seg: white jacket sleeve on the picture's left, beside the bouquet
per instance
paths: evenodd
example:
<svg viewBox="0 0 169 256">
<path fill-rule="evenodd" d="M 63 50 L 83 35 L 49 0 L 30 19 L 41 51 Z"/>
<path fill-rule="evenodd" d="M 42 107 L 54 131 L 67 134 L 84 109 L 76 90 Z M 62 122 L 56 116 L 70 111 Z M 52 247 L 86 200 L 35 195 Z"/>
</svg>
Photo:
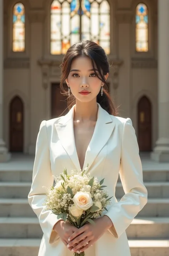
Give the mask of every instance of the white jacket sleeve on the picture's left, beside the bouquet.
<svg viewBox="0 0 169 256">
<path fill-rule="evenodd" d="M 50 154 L 48 148 L 46 121 L 42 121 L 36 141 L 35 162 L 32 176 L 31 190 L 28 195 L 28 202 L 39 218 L 45 240 L 48 243 L 56 242 L 59 237 L 53 230 L 58 222 L 57 215 L 50 210 L 45 210 L 46 189 L 53 185 L 54 178 L 50 166 Z"/>
</svg>

